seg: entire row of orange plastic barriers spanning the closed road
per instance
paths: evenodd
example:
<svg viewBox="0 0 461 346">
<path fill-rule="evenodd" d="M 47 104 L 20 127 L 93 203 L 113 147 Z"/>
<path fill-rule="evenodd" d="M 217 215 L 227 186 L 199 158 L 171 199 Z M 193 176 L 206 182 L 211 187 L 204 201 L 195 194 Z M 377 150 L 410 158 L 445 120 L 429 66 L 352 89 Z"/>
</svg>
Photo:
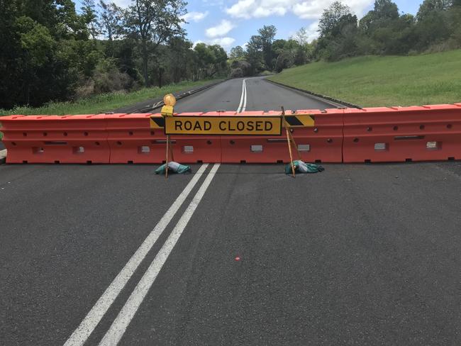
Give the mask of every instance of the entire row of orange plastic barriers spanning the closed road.
<svg viewBox="0 0 461 346">
<path fill-rule="evenodd" d="M 286 111 L 287 116 L 292 112 Z M 313 127 L 290 128 L 306 162 L 461 160 L 461 104 L 392 108 L 299 110 Z M 279 115 L 279 111 L 240 116 Z M 235 116 L 235 112 L 182 113 Z M 152 114 L 4 116 L 7 163 L 162 163 L 166 136 Z M 162 116 L 155 114 L 162 122 Z M 289 162 L 285 136 L 171 136 L 182 163 Z"/>
</svg>

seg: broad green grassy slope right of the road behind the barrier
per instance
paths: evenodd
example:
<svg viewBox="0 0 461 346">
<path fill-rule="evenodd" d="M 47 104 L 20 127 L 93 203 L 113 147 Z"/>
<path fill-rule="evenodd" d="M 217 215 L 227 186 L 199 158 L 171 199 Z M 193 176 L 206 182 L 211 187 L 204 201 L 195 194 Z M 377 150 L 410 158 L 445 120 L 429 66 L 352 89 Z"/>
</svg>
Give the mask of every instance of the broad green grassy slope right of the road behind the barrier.
<svg viewBox="0 0 461 346">
<path fill-rule="evenodd" d="M 364 107 L 453 104 L 461 102 L 461 50 L 314 62 L 270 79 Z"/>
</svg>

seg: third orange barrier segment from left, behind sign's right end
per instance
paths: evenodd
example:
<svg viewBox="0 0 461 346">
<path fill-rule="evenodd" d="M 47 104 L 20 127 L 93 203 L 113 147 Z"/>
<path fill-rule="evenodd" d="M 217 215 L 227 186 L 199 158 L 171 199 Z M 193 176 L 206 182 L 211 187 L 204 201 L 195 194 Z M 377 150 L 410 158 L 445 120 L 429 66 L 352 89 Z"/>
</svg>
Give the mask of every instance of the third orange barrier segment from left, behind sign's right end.
<svg viewBox="0 0 461 346">
<path fill-rule="evenodd" d="M 287 115 L 293 113 L 286 111 Z M 291 128 L 302 160 L 306 162 L 342 162 L 343 109 L 299 110 L 299 114 L 313 114 L 315 126 Z M 243 112 L 241 116 L 269 116 L 280 111 Z M 277 163 L 289 162 L 286 136 L 221 137 L 223 163 Z"/>
</svg>

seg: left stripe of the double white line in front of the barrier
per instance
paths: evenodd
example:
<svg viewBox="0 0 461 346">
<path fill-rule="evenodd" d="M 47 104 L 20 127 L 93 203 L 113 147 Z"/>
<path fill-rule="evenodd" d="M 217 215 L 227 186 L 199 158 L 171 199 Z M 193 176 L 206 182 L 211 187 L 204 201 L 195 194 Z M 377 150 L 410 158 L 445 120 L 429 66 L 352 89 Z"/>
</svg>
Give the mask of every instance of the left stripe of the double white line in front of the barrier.
<svg viewBox="0 0 461 346">
<path fill-rule="evenodd" d="M 145 238 L 143 244 L 138 247 L 138 250 L 136 250 L 128 263 L 125 264 L 125 267 L 123 267 L 121 272 L 118 273 L 116 278 L 113 279 L 110 286 L 106 289 L 106 291 L 104 291 L 104 294 L 98 299 L 98 301 L 96 301 L 96 304 L 94 304 L 93 308 L 91 308 L 87 316 L 84 320 L 82 320 L 79 327 L 74 330 L 72 335 L 70 335 L 69 339 L 64 344 L 65 346 L 84 345 L 84 342 L 87 341 L 89 335 L 91 335 L 94 328 L 96 328 L 96 325 L 98 325 L 101 318 L 103 318 L 104 314 L 109 310 L 113 301 L 115 301 L 118 294 L 120 294 L 121 290 L 133 275 L 136 268 L 138 268 L 139 264 L 143 262 L 145 256 L 148 255 L 152 246 L 155 244 L 165 228 L 167 228 L 167 225 L 182 206 L 182 203 L 184 203 L 187 196 L 189 196 L 202 174 L 204 174 L 206 167 L 208 167 L 208 164 L 202 164 L 200 169 L 196 172 L 196 174 L 194 174 L 194 177 L 192 177 L 191 181 L 187 184 L 182 193 L 179 194 L 176 201 L 174 201 L 165 215 L 160 219 L 157 225 L 155 225 L 155 228 L 152 232 L 150 232 L 148 237 Z"/>
</svg>

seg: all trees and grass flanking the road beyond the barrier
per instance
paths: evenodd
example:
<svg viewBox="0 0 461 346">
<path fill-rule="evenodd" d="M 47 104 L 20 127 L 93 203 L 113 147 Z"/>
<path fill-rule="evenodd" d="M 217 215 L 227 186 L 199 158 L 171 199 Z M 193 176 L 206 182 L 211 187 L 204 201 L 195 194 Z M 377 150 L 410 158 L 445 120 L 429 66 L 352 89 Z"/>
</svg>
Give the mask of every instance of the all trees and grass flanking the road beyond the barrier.
<svg viewBox="0 0 461 346">
<path fill-rule="evenodd" d="M 364 105 L 451 101 L 459 86 L 459 65 L 443 59 L 461 48 L 461 0 L 423 0 L 416 16 L 376 0 L 362 18 L 347 1 L 335 1 L 323 11 L 316 40 L 309 28 L 276 39 L 277 28 L 263 26 L 229 55 L 220 45 L 187 39 L 184 0 L 127 0 L 124 8 L 110 0 L 79 3 L 0 1 L 1 113 L 94 113 L 155 97 L 151 87 L 292 67 L 313 74 L 309 84 L 289 70 L 274 80 Z M 343 90 L 336 82 L 347 74 L 357 84 Z M 327 79 L 334 81 L 328 88 Z"/>
</svg>

